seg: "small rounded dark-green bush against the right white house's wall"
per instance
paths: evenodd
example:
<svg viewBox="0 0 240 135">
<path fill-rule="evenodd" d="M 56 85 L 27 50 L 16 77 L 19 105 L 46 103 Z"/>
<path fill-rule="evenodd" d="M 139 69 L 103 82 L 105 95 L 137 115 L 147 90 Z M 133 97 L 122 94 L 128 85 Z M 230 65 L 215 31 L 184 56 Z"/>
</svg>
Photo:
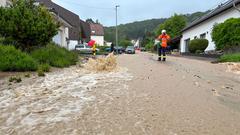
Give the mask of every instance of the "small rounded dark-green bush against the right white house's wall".
<svg viewBox="0 0 240 135">
<path fill-rule="evenodd" d="M 194 39 L 190 41 L 189 51 L 191 53 L 200 53 L 208 47 L 207 39 Z"/>
</svg>

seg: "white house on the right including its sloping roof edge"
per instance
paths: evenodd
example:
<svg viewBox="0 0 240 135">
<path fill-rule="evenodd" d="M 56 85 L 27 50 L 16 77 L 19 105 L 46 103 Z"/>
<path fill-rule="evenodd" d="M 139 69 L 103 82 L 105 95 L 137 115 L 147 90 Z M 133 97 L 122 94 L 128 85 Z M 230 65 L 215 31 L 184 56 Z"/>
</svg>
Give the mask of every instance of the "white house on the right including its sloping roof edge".
<svg viewBox="0 0 240 135">
<path fill-rule="evenodd" d="M 190 40 L 195 38 L 204 38 L 209 41 L 205 51 L 215 50 L 215 43 L 211 37 L 213 26 L 229 18 L 240 18 L 240 0 L 229 0 L 184 28 L 180 43 L 181 53 L 188 52 Z"/>
</svg>

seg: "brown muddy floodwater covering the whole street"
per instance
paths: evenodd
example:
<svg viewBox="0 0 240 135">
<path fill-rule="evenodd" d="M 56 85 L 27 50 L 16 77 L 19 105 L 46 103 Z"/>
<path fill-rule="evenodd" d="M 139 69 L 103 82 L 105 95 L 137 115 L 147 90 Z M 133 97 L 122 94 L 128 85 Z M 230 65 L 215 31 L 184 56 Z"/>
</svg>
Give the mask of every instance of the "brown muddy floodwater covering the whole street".
<svg viewBox="0 0 240 135">
<path fill-rule="evenodd" d="M 71 67 L 8 85 L 0 80 L 0 134 L 240 134 L 240 77 L 226 65 L 148 53 L 121 68 Z"/>
</svg>

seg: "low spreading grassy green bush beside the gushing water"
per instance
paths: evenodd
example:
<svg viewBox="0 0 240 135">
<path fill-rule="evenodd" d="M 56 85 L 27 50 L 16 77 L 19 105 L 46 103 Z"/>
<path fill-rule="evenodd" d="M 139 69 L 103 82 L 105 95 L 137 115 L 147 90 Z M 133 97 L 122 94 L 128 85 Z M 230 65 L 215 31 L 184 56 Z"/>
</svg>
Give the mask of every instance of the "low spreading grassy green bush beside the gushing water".
<svg viewBox="0 0 240 135">
<path fill-rule="evenodd" d="M 69 67 L 75 65 L 78 61 L 78 55 L 65 48 L 50 43 L 46 47 L 34 50 L 32 57 L 40 64 L 49 64 L 53 67 Z"/>
</svg>

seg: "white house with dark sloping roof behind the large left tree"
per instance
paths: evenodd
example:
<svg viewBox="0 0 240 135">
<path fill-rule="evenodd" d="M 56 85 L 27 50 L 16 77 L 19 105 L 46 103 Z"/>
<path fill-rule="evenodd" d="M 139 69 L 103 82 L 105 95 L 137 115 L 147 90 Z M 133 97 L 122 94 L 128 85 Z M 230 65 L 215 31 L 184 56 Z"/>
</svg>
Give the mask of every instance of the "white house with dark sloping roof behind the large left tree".
<svg viewBox="0 0 240 135">
<path fill-rule="evenodd" d="M 46 6 L 55 14 L 55 18 L 61 23 L 58 34 L 53 41 L 69 50 L 74 50 L 81 40 L 81 24 L 77 14 L 57 5 L 52 0 L 35 0 Z"/>
</svg>

